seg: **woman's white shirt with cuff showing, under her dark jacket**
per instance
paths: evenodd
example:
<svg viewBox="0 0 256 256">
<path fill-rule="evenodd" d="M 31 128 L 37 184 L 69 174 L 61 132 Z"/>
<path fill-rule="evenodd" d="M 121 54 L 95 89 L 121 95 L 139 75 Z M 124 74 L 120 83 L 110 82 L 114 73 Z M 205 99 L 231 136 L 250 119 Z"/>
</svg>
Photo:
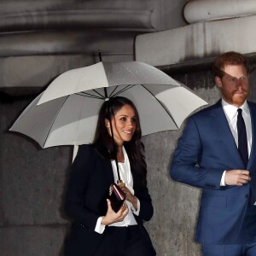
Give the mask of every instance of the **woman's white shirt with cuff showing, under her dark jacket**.
<svg viewBox="0 0 256 256">
<path fill-rule="evenodd" d="M 123 181 L 123 183 L 125 183 L 125 186 L 131 191 L 131 194 L 134 195 L 133 178 L 132 178 L 132 175 L 131 175 L 131 166 L 130 166 L 130 161 L 129 161 L 128 155 L 125 151 L 125 147 L 123 147 L 123 153 L 124 153 L 125 161 L 124 161 L 124 163 L 122 163 L 122 162 L 118 163 L 120 178 Z M 117 168 L 116 168 L 115 160 L 112 160 L 111 164 L 112 164 L 112 168 L 113 168 L 114 182 L 117 183 L 119 178 L 118 178 L 118 174 L 117 174 Z M 125 201 L 125 204 L 129 208 L 129 212 L 126 215 L 126 217 L 124 218 L 124 220 L 120 221 L 120 222 L 110 224 L 109 226 L 127 227 L 129 225 L 136 225 L 137 224 L 137 221 L 134 218 L 133 213 L 136 214 L 137 216 L 139 215 L 140 201 L 137 199 L 137 210 L 132 206 L 130 201 Z M 100 217 L 100 218 L 97 219 L 96 228 L 95 228 L 95 231 L 97 233 L 100 233 L 100 234 L 102 234 L 105 230 L 105 225 L 101 224 L 102 218 L 103 217 Z"/>
</svg>

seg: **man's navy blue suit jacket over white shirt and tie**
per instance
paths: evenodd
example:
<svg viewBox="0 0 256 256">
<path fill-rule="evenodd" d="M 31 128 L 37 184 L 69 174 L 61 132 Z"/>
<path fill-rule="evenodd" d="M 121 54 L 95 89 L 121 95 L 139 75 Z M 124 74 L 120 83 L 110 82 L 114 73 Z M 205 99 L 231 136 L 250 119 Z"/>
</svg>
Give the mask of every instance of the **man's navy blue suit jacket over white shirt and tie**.
<svg viewBox="0 0 256 256">
<path fill-rule="evenodd" d="M 256 236 L 254 220 L 241 230 L 250 188 L 256 198 L 256 104 L 248 102 L 248 106 L 253 143 L 247 166 L 241 160 L 221 101 L 189 117 L 177 143 L 170 170 L 172 179 L 202 189 L 196 241 L 229 244 L 240 243 L 241 237 L 247 237 L 245 234 L 250 234 L 248 240 Z M 252 182 L 221 187 L 224 170 L 232 169 L 247 169 Z"/>
</svg>

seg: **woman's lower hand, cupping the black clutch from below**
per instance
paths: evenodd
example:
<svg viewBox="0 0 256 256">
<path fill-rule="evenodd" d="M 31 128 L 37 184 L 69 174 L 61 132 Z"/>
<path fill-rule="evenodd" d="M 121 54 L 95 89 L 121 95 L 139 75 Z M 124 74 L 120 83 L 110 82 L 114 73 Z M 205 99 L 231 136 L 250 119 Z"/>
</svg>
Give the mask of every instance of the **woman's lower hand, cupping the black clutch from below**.
<svg viewBox="0 0 256 256">
<path fill-rule="evenodd" d="M 125 203 L 120 208 L 119 212 L 114 212 L 111 207 L 111 202 L 109 201 L 109 199 L 107 199 L 107 201 L 108 201 L 108 212 L 107 212 L 106 216 L 104 216 L 102 218 L 102 224 L 109 225 L 109 224 L 113 224 L 115 222 L 123 221 L 129 212 L 129 209 L 125 205 Z"/>
</svg>

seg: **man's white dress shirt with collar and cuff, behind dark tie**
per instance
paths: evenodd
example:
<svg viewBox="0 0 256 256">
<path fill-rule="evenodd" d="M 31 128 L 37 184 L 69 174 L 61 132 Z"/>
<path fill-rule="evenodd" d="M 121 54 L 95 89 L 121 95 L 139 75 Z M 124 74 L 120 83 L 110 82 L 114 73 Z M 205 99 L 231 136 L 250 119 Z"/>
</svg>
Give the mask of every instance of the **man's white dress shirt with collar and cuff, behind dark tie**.
<svg viewBox="0 0 256 256">
<path fill-rule="evenodd" d="M 237 134 L 237 127 L 236 127 L 238 108 L 225 102 L 224 99 L 222 99 L 222 107 L 224 108 L 226 119 L 228 120 L 228 123 L 230 125 L 230 131 L 232 132 L 232 135 L 235 139 L 236 147 L 238 148 L 238 134 Z M 248 107 L 247 101 L 245 101 L 240 108 L 242 109 L 242 117 L 244 119 L 246 129 L 247 129 L 247 147 L 248 147 L 248 156 L 249 156 L 252 148 L 252 124 L 251 124 L 250 109 Z M 223 176 L 221 178 L 221 182 L 220 182 L 221 186 L 225 186 L 225 182 L 224 182 L 225 173 L 226 171 L 224 171 Z"/>
</svg>

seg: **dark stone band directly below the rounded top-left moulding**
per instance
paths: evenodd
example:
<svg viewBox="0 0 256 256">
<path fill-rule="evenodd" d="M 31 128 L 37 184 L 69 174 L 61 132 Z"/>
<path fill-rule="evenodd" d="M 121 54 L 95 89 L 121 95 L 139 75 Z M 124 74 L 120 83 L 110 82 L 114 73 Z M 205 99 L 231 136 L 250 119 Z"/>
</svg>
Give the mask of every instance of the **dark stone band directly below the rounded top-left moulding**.
<svg viewBox="0 0 256 256">
<path fill-rule="evenodd" d="M 133 54 L 134 40 L 141 32 L 115 30 L 61 30 L 0 34 L 0 56 Z"/>
</svg>

